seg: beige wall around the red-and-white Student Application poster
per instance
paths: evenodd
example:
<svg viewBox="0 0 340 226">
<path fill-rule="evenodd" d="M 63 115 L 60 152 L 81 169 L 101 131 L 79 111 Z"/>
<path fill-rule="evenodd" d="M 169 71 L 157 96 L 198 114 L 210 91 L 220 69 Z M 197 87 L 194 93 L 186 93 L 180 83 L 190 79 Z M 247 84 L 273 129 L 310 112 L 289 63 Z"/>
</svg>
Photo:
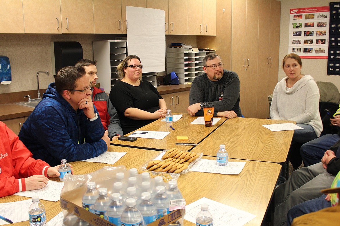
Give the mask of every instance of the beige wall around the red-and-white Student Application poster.
<svg viewBox="0 0 340 226">
<path fill-rule="evenodd" d="M 291 8 L 304 8 L 315 6 L 328 6 L 329 0 L 281 0 L 281 23 L 280 23 L 280 52 L 278 80 L 286 76 L 282 69 L 282 60 L 288 54 L 289 40 L 289 10 Z M 340 91 L 340 77 L 327 75 L 326 59 L 302 59 L 302 74 L 310 74 L 315 81 L 333 82 Z"/>
</svg>

